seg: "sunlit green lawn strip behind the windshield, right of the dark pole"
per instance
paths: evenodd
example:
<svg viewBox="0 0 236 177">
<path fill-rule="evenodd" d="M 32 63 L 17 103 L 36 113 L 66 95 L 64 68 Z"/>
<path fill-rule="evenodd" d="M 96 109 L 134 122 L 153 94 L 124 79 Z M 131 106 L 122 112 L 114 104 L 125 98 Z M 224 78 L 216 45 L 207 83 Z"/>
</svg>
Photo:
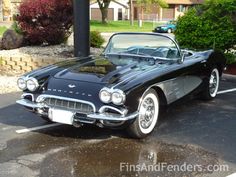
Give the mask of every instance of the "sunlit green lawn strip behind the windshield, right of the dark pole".
<svg viewBox="0 0 236 177">
<path fill-rule="evenodd" d="M 134 26 L 129 21 L 110 21 L 107 25 L 99 21 L 90 22 L 91 31 L 99 32 L 151 32 L 157 25 L 160 23 L 143 22 L 143 26 L 138 27 L 138 21 L 134 22 Z"/>
</svg>

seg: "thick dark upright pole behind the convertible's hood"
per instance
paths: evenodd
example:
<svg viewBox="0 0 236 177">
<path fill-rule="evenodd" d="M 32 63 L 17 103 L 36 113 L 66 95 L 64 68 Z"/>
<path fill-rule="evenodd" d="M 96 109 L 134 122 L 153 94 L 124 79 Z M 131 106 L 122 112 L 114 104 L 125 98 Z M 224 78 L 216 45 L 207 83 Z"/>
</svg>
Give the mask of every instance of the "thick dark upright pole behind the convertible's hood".
<svg viewBox="0 0 236 177">
<path fill-rule="evenodd" d="M 89 2 L 89 0 L 73 0 L 75 57 L 86 57 L 90 55 Z"/>
</svg>

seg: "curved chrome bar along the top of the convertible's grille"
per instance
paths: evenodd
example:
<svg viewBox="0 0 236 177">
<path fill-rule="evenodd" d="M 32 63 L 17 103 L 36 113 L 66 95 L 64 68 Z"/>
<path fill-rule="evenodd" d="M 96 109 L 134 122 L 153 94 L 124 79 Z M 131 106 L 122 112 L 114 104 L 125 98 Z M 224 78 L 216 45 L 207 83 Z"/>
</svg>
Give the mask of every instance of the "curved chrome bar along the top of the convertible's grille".
<svg viewBox="0 0 236 177">
<path fill-rule="evenodd" d="M 91 103 L 89 101 L 74 99 L 74 98 L 67 98 L 67 97 L 43 94 L 43 95 L 38 96 L 38 98 L 36 99 L 36 102 L 37 103 L 42 102 L 46 98 L 55 98 L 55 99 L 61 99 L 61 100 L 66 100 L 66 101 L 74 101 L 74 102 L 78 102 L 78 103 L 89 104 L 90 106 L 92 106 L 93 112 L 96 112 L 96 107 L 93 103 Z"/>
</svg>

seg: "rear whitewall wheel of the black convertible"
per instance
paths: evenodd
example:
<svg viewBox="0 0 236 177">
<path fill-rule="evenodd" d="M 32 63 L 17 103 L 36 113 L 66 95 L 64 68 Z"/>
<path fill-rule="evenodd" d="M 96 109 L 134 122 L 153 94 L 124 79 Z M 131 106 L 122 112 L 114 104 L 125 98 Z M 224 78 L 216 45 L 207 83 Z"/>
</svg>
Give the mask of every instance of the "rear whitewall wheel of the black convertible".
<svg viewBox="0 0 236 177">
<path fill-rule="evenodd" d="M 206 100 L 211 100 L 216 97 L 220 82 L 220 74 L 217 68 L 211 71 L 210 77 L 208 79 L 208 85 L 203 92 L 203 98 Z"/>
</svg>

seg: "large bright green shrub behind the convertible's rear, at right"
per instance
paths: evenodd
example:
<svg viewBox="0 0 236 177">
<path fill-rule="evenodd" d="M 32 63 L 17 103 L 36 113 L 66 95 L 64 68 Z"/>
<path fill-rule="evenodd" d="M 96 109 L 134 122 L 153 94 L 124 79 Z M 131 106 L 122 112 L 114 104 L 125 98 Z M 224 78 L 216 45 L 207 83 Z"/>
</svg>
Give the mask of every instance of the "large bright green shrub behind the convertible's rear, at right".
<svg viewBox="0 0 236 177">
<path fill-rule="evenodd" d="M 178 19 L 176 39 L 182 47 L 225 52 L 236 44 L 235 12 L 235 0 L 207 0 Z"/>
</svg>

